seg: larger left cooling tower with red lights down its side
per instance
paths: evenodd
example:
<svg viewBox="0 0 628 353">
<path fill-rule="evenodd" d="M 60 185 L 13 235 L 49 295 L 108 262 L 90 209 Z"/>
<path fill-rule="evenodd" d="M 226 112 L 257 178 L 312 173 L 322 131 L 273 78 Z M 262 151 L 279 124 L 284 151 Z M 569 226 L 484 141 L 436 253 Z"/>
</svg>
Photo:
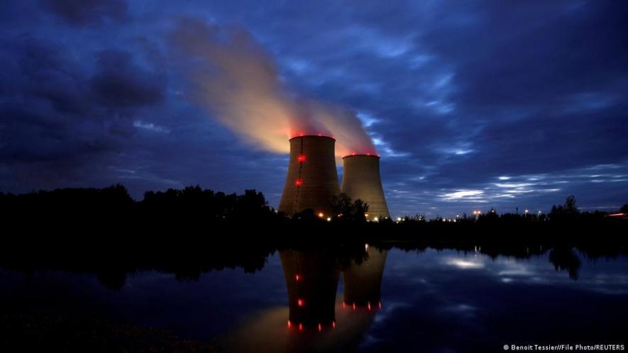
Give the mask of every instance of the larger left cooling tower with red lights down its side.
<svg viewBox="0 0 628 353">
<path fill-rule="evenodd" d="M 290 139 L 290 162 L 280 212 L 288 215 L 307 208 L 331 215 L 331 198 L 340 194 L 334 145 L 326 136 Z"/>
</svg>

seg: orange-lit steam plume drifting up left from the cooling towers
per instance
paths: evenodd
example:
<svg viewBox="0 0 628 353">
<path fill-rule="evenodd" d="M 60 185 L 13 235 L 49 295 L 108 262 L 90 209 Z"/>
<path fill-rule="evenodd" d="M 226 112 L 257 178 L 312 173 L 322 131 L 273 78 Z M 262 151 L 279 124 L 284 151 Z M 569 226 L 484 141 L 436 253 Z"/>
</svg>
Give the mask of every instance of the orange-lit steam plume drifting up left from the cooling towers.
<svg viewBox="0 0 628 353">
<path fill-rule="evenodd" d="M 171 39 L 189 60 L 190 98 L 247 142 L 287 153 L 288 139 L 321 134 L 336 138 L 338 156 L 377 153 L 353 111 L 290 91 L 246 30 L 186 18 Z"/>
</svg>

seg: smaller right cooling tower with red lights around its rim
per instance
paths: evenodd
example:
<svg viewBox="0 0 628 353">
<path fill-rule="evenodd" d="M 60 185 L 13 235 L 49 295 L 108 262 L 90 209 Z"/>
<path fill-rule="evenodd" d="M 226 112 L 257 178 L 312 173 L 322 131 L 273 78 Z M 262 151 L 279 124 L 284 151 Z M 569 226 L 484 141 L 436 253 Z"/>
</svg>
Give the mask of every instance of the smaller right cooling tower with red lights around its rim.
<svg viewBox="0 0 628 353">
<path fill-rule="evenodd" d="M 368 203 L 370 219 L 390 217 L 382 179 L 380 157 L 376 155 L 351 155 L 343 157 L 342 192 L 351 199 Z"/>
</svg>

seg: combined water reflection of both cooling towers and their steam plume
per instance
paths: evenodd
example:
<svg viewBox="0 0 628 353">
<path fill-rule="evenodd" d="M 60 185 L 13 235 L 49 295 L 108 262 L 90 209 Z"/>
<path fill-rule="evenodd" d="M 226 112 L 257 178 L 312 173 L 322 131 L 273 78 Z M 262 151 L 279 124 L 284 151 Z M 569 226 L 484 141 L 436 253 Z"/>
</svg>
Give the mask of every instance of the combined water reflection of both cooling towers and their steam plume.
<svg viewBox="0 0 628 353">
<path fill-rule="evenodd" d="M 388 250 L 365 247 L 363 259 L 338 264 L 329 252 L 282 250 L 287 308 L 255 315 L 228 339 L 236 352 L 351 352 L 382 308 Z M 343 276 L 343 299 L 336 298 Z"/>
</svg>

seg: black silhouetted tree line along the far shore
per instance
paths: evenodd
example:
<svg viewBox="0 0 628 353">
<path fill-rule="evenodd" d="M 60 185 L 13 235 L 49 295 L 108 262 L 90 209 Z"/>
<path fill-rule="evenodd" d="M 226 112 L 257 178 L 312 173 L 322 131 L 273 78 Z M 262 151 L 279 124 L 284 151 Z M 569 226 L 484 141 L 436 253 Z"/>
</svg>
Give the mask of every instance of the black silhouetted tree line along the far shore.
<svg viewBox="0 0 628 353">
<path fill-rule="evenodd" d="M 291 225 L 331 223 L 331 225 L 365 225 L 368 203 L 352 200 L 346 194 L 334 196 L 331 200 L 334 215 L 330 220 L 321 219 L 314 210 L 305 210 L 288 217 L 278 213 L 268 205 L 265 196 L 254 189 L 243 194 L 225 194 L 220 191 L 202 189 L 200 186 L 188 186 L 184 189 L 166 191 L 146 191 L 140 201 L 135 201 L 127 189 L 120 185 L 103 189 L 55 189 L 53 191 L 33 191 L 27 194 L 5 194 L 0 192 L 0 213 L 6 220 L 22 220 L 23 223 L 45 221 L 48 225 L 65 223 L 85 223 L 97 221 L 101 225 L 112 223 L 143 222 L 148 225 L 214 225 L 216 223 L 237 223 L 240 225 Z M 618 211 L 628 214 L 628 203 Z M 428 220 L 424 215 L 404 216 L 402 218 L 382 219 L 379 224 L 392 225 L 402 223 L 399 229 L 452 227 L 447 223 L 474 224 L 475 228 L 483 225 L 520 226 L 532 222 L 552 224 L 599 225 L 625 221 L 626 215 L 612 219 L 608 213 L 580 212 L 575 196 L 568 196 L 563 205 L 555 205 L 549 213 L 497 213 L 491 208 L 485 213 L 473 216 Z M 326 222 L 328 221 L 328 222 Z M 331 221 L 331 222 L 329 222 Z M 622 222 L 626 223 L 626 222 Z M 329 225 L 326 225 L 329 227 Z"/>
</svg>

